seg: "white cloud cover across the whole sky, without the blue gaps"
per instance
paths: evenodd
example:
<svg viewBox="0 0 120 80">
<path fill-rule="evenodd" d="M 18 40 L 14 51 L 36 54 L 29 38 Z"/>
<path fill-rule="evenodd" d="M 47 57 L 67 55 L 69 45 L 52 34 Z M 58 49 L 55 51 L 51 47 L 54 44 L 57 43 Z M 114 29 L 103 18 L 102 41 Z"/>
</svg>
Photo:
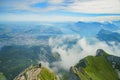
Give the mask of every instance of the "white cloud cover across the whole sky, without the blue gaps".
<svg viewBox="0 0 120 80">
<path fill-rule="evenodd" d="M 35 5 L 40 2 L 48 2 L 50 5 L 46 8 L 36 8 L 31 5 Z M 63 6 L 65 4 L 66 6 Z M 56 15 L 41 15 L 42 12 L 49 13 L 49 11 L 63 10 L 65 12 L 79 12 L 79 13 L 110 13 L 120 14 L 120 1 L 119 0 L 21 0 L 2 2 L 0 6 L 8 7 L 3 8 L 3 11 L 29 11 L 32 14 L 8 14 L 0 15 L 1 21 L 49 21 L 49 22 L 64 22 L 64 21 L 112 21 L 120 20 L 120 16 L 99 16 L 98 17 L 80 17 L 77 16 L 64 16 L 62 14 Z M 22 12 L 21 11 L 21 12 Z M 40 14 L 36 14 L 38 12 Z M 69 13 L 68 13 L 69 14 Z M 13 18 L 14 17 L 14 18 Z"/>
</svg>

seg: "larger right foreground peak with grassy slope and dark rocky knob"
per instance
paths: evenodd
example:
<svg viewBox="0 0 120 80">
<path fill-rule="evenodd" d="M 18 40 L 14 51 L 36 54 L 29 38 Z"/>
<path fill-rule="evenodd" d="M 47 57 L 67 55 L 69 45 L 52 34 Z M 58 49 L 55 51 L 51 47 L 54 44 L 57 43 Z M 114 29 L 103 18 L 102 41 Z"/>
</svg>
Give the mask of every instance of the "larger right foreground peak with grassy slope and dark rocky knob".
<svg viewBox="0 0 120 80">
<path fill-rule="evenodd" d="M 80 60 L 72 67 L 71 72 L 77 77 L 76 80 L 119 80 L 120 57 L 98 49 L 96 56 L 87 56 Z"/>
</svg>

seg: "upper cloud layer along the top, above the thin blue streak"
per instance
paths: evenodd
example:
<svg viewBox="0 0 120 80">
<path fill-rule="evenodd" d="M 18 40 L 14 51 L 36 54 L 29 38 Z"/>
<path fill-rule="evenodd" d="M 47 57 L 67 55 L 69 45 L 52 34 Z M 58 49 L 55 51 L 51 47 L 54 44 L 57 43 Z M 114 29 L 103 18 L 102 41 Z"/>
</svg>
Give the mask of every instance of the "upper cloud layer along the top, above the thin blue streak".
<svg viewBox="0 0 120 80">
<path fill-rule="evenodd" d="M 42 3 L 45 7 L 33 7 Z M 120 0 L 2 0 L 1 11 L 44 12 L 63 10 L 80 13 L 120 14 Z"/>
</svg>

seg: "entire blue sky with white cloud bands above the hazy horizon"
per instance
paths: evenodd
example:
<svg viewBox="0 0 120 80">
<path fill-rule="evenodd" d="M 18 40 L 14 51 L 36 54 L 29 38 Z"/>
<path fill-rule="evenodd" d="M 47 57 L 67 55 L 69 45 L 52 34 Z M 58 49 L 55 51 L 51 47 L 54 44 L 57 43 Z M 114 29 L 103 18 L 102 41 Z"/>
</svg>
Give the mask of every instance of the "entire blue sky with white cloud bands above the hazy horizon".
<svg viewBox="0 0 120 80">
<path fill-rule="evenodd" d="M 0 0 L 0 21 L 120 20 L 120 0 Z"/>
</svg>

